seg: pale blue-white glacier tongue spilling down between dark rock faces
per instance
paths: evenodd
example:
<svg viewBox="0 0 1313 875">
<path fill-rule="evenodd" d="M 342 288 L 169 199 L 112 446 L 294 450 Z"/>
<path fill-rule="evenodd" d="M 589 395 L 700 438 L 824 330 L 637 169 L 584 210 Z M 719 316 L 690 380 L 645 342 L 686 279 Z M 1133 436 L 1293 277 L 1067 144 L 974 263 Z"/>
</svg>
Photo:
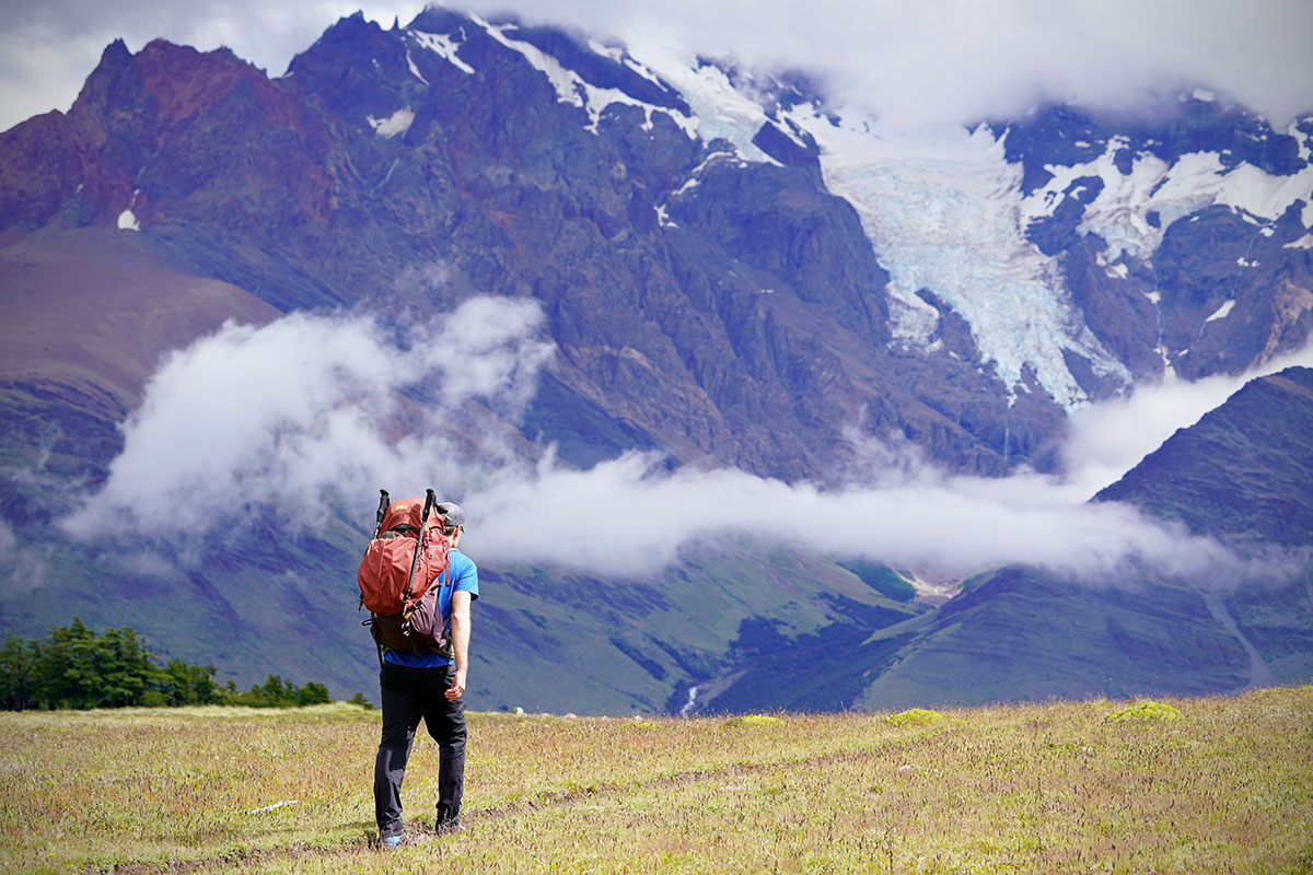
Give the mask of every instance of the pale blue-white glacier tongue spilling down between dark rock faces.
<svg viewBox="0 0 1313 875">
<path fill-rule="evenodd" d="M 857 210 L 890 274 L 895 340 L 928 345 L 939 312 L 916 294 L 924 289 L 961 314 L 981 363 L 993 363 L 1012 392 L 1029 391 L 1029 371 L 1064 408 L 1086 403 L 1066 353 L 1132 382 L 1073 306 L 1054 260 L 1025 237 L 1022 171 L 987 127 L 882 134 L 871 121 L 835 123 L 810 105 L 788 118 L 821 146 L 826 188 Z"/>
</svg>

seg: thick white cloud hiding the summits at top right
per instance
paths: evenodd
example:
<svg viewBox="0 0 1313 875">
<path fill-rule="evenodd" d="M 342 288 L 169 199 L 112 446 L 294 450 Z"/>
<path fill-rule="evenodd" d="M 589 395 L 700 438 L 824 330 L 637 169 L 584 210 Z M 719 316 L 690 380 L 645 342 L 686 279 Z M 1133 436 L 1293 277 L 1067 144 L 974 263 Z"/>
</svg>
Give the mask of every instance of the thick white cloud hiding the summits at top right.
<svg viewBox="0 0 1313 875">
<path fill-rule="evenodd" d="M 847 0 L 470 0 L 569 21 L 630 46 L 664 43 L 748 66 L 800 67 L 898 125 L 1014 115 L 1045 98 L 1127 108 L 1207 84 L 1274 121 L 1313 110 L 1304 0 L 853 4 Z"/>
</svg>

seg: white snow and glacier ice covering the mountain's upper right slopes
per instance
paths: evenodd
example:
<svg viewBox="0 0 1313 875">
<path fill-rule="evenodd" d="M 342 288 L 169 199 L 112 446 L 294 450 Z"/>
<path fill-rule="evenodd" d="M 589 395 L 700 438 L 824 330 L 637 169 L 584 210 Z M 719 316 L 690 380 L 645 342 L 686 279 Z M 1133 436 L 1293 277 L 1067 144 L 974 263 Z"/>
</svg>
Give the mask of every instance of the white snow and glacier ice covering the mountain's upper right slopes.
<svg viewBox="0 0 1313 875">
<path fill-rule="evenodd" d="M 527 46 L 508 37 L 513 25 L 486 26 L 506 45 Z M 860 110 L 836 113 L 818 102 L 781 101 L 776 80 L 759 81 L 656 45 L 590 46 L 624 58 L 645 75 L 654 73 L 689 108 L 684 114 L 647 105 L 649 117 L 653 110 L 671 113 L 689 136 L 726 142 L 744 165 L 780 163 L 763 148 L 762 134 L 772 129 L 797 150 L 815 155 L 825 186 L 857 211 L 876 257 L 890 274 L 888 287 L 872 293 L 889 295 L 892 342 L 937 352 L 943 314 L 920 294 L 931 293 L 965 319 L 978 365 L 991 370 L 1012 397 L 1033 387 L 1071 409 L 1090 397 L 1088 374 L 1103 392 L 1134 380 L 1128 362 L 1100 341 L 1073 302 L 1060 265 L 1064 253 L 1043 251 L 1028 234 L 1036 223 L 1054 219 L 1064 203 L 1083 207 L 1075 232 L 1103 241 L 1098 264 L 1113 281 L 1127 278 L 1134 266 L 1128 260 L 1150 262 L 1173 223 L 1197 220 L 1200 211 L 1213 206 L 1232 210 L 1268 237 L 1293 207 L 1301 235 L 1284 247 L 1306 251 L 1309 245 L 1313 160 L 1308 119 L 1285 131 L 1297 142 L 1297 171 L 1291 173 L 1245 163 L 1230 148 L 1201 147 L 1165 159 L 1150 151 L 1161 140 L 1148 138 L 1145 148 L 1137 150 L 1130 136 L 1113 134 L 1104 143 L 1070 142 L 1087 160 L 1045 163 L 1048 180 L 1031 186 L 1022 161 L 1008 159 L 1004 126 L 884 131 Z M 608 101 L 641 102 L 588 87 L 532 46 L 523 50 L 551 79 L 561 100 L 587 110 L 591 129 Z M 1195 102 L 1205 98 L 1213 100 L 1203 91 L 1192 96 Z M 1245 135 L 1255 142 L 1279 136 Z M 679 199 L 697 185 L 702 167 L 658 207 L 662 224 L 679 224 Z M 1254 265 L 1241 258 L 1238 266 Z M 1158 289 L 1142 294 L 1155 304 L 1161 298 Z M 1211 320 L 1224 315 L 1216 307 L 1209 311 Z M 1170 373 L 1169 350 L 1161 344 L 1154 349 Z"/>
</svg>

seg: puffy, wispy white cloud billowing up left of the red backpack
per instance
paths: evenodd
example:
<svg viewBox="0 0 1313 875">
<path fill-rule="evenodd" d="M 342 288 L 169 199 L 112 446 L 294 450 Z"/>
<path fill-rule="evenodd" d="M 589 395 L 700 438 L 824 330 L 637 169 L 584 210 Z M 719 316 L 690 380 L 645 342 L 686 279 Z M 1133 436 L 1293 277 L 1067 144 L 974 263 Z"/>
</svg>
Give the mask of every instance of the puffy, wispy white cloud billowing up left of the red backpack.
<svg viewBox="0 0 1313 875">
<path fill-rule="evenodd" d="M 299 514 L 378 483 L 458 480 L 456 417 L 474 397 L 513 416 L 532 396 L 553 350 L 541 317 L 534 302 L 475 298 L 400 337 L 362 314 L 225 324 L 151 378 L 70 529 L 168 535 L 249 505 Z"/>
</svg>

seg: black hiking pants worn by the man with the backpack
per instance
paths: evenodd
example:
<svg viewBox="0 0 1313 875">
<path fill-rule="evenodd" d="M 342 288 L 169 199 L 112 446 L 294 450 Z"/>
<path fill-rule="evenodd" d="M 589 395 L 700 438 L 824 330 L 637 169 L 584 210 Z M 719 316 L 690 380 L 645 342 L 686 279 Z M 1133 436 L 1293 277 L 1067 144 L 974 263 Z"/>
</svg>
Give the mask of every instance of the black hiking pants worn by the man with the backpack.
<svg viewBox="0 0 1313 875">
<path fill-rule="evenodd" d="M 387 661 L 378 672 L 383 733 L 374 760 L 374 817 L 381 836 L 402 832 L 402 779 L 421 719 L 441 756 L 436 825 L 441 829 L 460 824 L 465 788 L 465 702 L 449 702 L 445 695 L 454 674 L 452 665 L 415 669 Z"/>
</svg>

